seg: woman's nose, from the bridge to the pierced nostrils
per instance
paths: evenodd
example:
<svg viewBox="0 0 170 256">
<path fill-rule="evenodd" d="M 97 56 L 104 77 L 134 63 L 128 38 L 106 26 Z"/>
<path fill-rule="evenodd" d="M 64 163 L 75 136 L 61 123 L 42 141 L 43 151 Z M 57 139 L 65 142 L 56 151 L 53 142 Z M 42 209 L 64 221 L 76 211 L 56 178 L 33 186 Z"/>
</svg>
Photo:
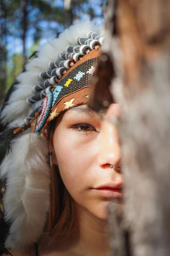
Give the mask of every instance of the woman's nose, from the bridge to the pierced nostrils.
<svg viewBox="0 0 170 256">
<path fill-rule="evenodd" d="M 117 127 L 104 121 L 99 136 L 98 165 L 108 168 L 112 164 L 117 170 L 120 161 L 121 150 Z"/>
</svg>

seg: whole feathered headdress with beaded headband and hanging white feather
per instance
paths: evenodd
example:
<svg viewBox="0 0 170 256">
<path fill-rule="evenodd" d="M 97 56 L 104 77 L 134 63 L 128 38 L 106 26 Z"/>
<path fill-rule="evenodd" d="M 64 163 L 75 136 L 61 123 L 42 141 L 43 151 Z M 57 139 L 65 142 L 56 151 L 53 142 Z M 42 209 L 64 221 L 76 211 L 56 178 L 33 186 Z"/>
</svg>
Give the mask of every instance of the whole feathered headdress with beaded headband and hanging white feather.
<svg viewBox="0 0 170 256">
<path fill-rule="evenodd" d="M 103 40 L 100 28 L 89 20 L 71 26 L 35 53 L 6 97 L 0 113 L 0 181 L 6 180 L 7 249 L 22 249 L 43 231 L 50 167 L 48 143 L 39 131 L 62 111 L 88 100 Z"/>
</svg>

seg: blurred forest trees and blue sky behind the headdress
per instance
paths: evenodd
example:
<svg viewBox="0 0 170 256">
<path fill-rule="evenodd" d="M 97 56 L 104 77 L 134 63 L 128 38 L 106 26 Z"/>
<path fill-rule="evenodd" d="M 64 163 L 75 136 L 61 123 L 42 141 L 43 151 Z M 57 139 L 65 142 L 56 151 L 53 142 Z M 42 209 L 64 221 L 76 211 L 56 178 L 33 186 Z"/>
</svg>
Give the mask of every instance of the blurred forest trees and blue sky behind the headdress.
<svg viewBox="0 0 170 256">
<path fill-rule="evenodd" d="M 89 17 L 104 18 L 106 0 L 1 0 L 0 108 L 29 57 L 64 28 Z"/>
</svg>

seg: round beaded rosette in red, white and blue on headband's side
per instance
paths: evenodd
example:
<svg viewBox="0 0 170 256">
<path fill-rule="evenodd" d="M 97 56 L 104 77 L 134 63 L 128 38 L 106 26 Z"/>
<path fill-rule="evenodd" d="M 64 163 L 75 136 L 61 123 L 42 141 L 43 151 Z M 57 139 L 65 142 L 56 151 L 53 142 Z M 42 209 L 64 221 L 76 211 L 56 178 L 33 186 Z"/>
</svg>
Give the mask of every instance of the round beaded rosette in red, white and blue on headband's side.
<svg viewBox="0 0 170 256">
<path fill-rule="evenodd" d="M 35 131 L 40 131 L 44 127 L 45 122 L 50 114 L 52 99 L 53 99 L 53 94 L 52 92 L 49 92 L 43 101 L 40 115 L 38 116 L 36 121 Z"/>
</svg>

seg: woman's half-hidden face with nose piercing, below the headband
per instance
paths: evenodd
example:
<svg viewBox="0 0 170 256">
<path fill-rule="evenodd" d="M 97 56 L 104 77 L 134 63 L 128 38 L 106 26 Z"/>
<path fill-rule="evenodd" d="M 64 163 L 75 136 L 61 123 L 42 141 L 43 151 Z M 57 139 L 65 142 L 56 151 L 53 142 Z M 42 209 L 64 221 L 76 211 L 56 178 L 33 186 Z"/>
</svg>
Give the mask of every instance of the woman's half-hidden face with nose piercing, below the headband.
<svg viewBox="0 0 170 256">
<path fill-rule="evenodd" d="M 53 162 L 65 187 L 78 205 L 100 219 L 106 219 L 109 199 L 122 196 L 120 143 L 110 122 L 119 115 L 118 104 L 109 106 L 103 120 L 87 105 L 73 107 L 58 117 L 53 135 Z"/>
</svg>

